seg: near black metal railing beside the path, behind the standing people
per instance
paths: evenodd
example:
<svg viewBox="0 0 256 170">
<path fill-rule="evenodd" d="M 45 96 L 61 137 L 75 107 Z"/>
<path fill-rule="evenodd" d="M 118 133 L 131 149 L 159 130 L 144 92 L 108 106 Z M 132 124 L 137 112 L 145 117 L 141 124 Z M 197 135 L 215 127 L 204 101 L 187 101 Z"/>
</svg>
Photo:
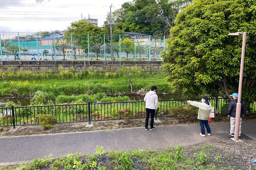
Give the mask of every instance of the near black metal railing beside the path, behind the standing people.
<svg viewBox="0 0 256 170">
<path fill-rule="evenodd" d="M 186 99 L 188 100 L 188 99 Z M 172 107 L 188 105 L 186 100 L 160 100 L 156 117 L 170 117 Z M 201 99 L 190 99 L 200 101 Z M 226 98 L 209 99 L 212 107 L 222 111 L 222 106 L 228 104 Z M 53 115 L 57 123 L 84 122 L 99 120 L 121 119 L 118 110 L 129 108 L 132 112 L 131 118 L 143 118 L 146 116 L 146 105 L 144 101 L 125 101 L 125 102 L 104 102 L 104 103 L 85 103 L 68 105 L 42 105 L 42 106 L 19 106 L 19 107 L 0 107 L 0 117 L 6 117 L 8 125 L 35 125 L 39 124 L 36 116 L 39 114 Z M 256 112 L 256 102 L 247 112 Z M 196 116 L 196 115 L 195 115 Z M 0 122 L 3 126 L 3 122 Z"/>
</svg>

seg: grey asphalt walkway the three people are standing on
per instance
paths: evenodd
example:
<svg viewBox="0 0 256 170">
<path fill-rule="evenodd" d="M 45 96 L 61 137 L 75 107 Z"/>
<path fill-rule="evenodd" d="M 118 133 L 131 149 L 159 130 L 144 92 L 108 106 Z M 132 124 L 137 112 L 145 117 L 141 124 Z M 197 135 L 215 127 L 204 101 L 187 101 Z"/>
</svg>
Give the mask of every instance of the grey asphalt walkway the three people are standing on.
<svg viewBox="0 0 256 170">
<path fill-rule="evenodd" d="M 170 146 L 196 145 L 214 140 L 229 141 L 229 122 L 210 123 L 212 136 L 199 135 L 199 124 L 158 126 L 156 130 L 144 128 L 75 132 L 20 137 L 0 137 L 0 165 L 21 163 L 35 157 L 59 157 L 68 153 L 93 153 L 97 145 L 105 150 L 162 149 Z M 256 140 L 256 121 L 243 121 L 241 136 Z"/>
</svg>

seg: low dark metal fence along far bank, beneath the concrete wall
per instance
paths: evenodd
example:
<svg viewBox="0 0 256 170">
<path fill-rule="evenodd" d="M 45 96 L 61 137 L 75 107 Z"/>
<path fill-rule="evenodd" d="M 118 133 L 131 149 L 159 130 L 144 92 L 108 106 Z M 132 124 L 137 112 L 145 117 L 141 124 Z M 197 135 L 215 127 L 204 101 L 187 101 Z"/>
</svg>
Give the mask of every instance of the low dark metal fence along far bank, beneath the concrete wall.
<svg viewBox="0 0 256 170">
<path fill-rule="evenodd" d="M 61 70 L 70 70 L 71 68 L 75 71 L 94 71 L 94 70 L 107 70 L 115 71 L 119 70 L 122 65 L 62 65 Z M 130 65 L 127 65 L 130 66 Z M 133 66 L 133 65 L 131 65 Z M 137 65 L 140 69 L 143 70 L 160 70 L 161 65 Z M 57 65 L 15 65 L 15 66 L 0 66 L 2 71 L 60 71 L 59 66 Z"/>
</svg>

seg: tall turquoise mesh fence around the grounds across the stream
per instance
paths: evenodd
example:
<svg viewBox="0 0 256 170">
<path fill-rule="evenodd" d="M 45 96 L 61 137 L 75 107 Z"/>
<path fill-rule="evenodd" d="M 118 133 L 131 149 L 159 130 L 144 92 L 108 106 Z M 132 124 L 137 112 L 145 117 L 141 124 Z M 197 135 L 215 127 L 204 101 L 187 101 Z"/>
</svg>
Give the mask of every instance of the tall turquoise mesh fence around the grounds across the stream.
<svg viewBox="0 0 256 170">
<path fill-rule="evenodd" d="M 40 33 L 2 32 L 0 60 L 160 60 L 168 38 L 75 33 L 43 37 Z"/>
</svg>

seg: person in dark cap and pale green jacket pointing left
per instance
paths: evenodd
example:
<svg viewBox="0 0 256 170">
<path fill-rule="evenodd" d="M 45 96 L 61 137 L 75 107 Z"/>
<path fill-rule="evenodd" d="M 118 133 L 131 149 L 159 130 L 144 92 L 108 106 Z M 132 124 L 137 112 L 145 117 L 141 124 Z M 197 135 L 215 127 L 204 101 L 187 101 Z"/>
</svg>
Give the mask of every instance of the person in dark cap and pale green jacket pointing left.
<svg viewBox="0 0 256 170">
<path fill-rule="evenodd" d="M 205 126 L 206 130 L 207 130 L 207 134 L 208 134 L 208 136 L 210 136 L 211 135 L 211 129 L 210 129 L 210 126 L 209 126 L 209 123 L 208 123 L 208 119 L 209 119 L 209 116 L 210 116 L 212 105 L 209 103 L 207 96 L 203 96 L 201 98 L 202 98 L 202 102 L 190 101 L 190 100 L 188 100 L 187 102 L 189 104 L 191 104 L 192 106 L 198 107 L 197 119 L 199 119 L 200 126 L 201 126 L 200 135 L 205 136 L 205 130 L 204 130 L 204 126 Z"/>
</svg>

